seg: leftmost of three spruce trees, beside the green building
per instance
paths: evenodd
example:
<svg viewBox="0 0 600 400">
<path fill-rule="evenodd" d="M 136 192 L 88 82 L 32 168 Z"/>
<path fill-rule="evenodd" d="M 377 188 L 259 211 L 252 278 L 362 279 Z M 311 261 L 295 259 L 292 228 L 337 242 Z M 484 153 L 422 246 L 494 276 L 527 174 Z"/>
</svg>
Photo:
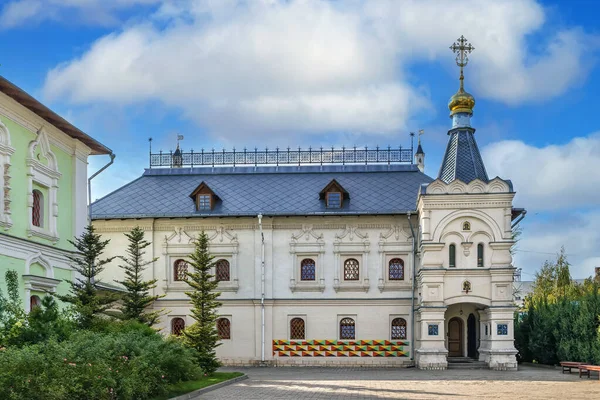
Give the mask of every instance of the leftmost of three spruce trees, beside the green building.
<svg viewBox="0 0 600 400">
<path fill-rule="evenodd" d="M 69 294 L 56 297 L 73 305 L 82 328 L 89 328 L 94 318 L 110 309 L 120 297 L 115 293 L 100 293 L 98 290 L 97 276 L 104 271 L 105 265 L 115 258 L 100 258 L 109 242 L 110 240 L 102 240 L 101 236 L 94 232 L 92 225 L 88 225 L 81 237 L 75 238 L 75 241 L 69 240 L 69 243 L 75 246 L 76 252 L 68 258 L 71 267 L 81 277 L 66 279 L 65 282 L 71 287 Z"/>
</svg>

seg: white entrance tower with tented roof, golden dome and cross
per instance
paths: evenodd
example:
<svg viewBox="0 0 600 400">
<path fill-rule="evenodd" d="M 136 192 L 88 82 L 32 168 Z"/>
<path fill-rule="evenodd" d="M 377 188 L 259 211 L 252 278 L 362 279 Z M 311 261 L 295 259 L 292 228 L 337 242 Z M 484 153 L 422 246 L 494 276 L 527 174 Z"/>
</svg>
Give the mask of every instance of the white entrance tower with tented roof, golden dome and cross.
<svg viewBox="0 0 600 400">
<path fill-rule="evenodd" d="M 421 266 L 417 272 L 417 367 L 446 369 L 479 361 L 516 369 L 513 332 L 512 183 L 489 179 L 471 117 L 475 98 L 464 89 L 463 69 L 474 50 L 461 36 L 460 86 L 448 108 L 452 127 L 437 179 L 421 187 Z"/>
</svg>

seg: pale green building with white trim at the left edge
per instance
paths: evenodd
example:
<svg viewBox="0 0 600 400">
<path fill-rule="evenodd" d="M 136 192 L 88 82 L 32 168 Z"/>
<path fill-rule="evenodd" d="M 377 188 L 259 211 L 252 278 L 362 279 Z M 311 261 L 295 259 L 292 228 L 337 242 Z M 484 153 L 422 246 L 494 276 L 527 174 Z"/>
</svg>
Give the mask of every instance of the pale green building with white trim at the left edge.
<svg viewBox="0 0 600 400">
<path fill-rule="evenodd" d="M 19 273 L 26 311 L 64 293 L 87 225 L 88 156 L 111 150 L 0 77 L 0 289 Z"/>
</svg>

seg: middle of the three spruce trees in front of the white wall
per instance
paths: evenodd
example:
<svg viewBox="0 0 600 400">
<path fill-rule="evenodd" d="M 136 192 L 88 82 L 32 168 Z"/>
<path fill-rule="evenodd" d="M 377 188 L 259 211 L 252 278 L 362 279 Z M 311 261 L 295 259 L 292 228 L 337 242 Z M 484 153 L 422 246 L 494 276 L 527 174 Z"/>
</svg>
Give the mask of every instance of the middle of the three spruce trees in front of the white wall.
<svg viewBox="0 0 600 400">
<path fill-rule="evenodd" d="M 156 287 L 158 279 L 144 281 L 142 275 L 146 266 L 158 260 L 158 257 L 150 261 L 144 261 L 144 254 L 146 254 L 144 249 L 150 246 L 151 243 L 144 239 L 144 231 L 139 226 L 133 228 L 131 232 L 125 233 L 125 236 L 129 239 L 127 256 L 119 257 L 125 263 L 119 265 L 120 268 L 125 270 L 125 279 L 115 281 L 127 289 L 127 293 L 123 295 L 123 306 L 120 310 L 125 319 L 137 320 L 152 326 L 158 322 L 162 312 L 146 312 L 145 310 L 156 300 L 165 296 L 151 296 L 150 290 Z"/>
</svg>

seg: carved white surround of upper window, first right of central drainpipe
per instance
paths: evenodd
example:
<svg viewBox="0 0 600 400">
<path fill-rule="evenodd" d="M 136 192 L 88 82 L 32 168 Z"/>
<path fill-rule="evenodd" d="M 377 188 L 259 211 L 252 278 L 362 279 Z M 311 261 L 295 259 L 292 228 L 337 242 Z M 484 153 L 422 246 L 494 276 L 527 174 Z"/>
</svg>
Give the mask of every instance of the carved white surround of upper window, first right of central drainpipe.
<svg viewBox="0 0 600 400">
<path fill-rule="evenodd" d="M 311 225 L 304 225 L 300 232 L 292 234 L 290 241 L 290 255 L 292 257 L 290 290 L 292 292 L 323 292 L 325 290 L 324 254 L 323 234 L 317 234 Z M 303 281 L 301 279 L 300 264 L 305 258 L 312 258 L 315 261 L 314 281 Z"/>
</svg>

